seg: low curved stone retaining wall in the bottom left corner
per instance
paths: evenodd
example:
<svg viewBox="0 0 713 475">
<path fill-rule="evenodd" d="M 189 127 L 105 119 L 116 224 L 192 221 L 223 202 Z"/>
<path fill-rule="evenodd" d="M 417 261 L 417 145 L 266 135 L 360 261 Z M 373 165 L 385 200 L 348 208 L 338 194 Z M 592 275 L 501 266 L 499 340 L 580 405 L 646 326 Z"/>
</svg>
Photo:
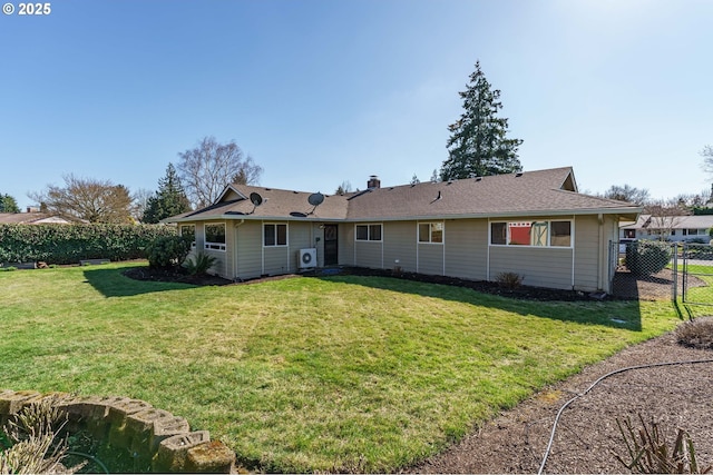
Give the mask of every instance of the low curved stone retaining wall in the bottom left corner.
<svg viewBox="0 0 713 475">
<path fill-rule="evenodd" d="M 157 473 L 229 473 L 235 453 L 183 417 L 128 397 L 75 397 L 64 393 L 0 389 L 0 426 L 28 404 L 56 397 L 75 427 L 116 449 L 128 449 Z"/>
</svg>

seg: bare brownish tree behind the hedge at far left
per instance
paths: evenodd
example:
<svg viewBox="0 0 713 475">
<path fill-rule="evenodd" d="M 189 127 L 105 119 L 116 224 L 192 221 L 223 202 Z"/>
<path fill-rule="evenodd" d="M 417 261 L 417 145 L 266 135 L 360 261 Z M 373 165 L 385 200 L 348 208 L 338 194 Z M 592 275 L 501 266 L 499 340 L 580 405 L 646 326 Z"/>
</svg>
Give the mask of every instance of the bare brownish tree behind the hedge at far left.
<svg viewBox="0 0 713 475">
<path fill-rule="evenodd" d="M 131 197 L 124 185 L 65 175 L 65 187 L 48 185 L 42 192 L 28 196 L 47 212 L 89 222 L 130 222 Z"/>
</svg>

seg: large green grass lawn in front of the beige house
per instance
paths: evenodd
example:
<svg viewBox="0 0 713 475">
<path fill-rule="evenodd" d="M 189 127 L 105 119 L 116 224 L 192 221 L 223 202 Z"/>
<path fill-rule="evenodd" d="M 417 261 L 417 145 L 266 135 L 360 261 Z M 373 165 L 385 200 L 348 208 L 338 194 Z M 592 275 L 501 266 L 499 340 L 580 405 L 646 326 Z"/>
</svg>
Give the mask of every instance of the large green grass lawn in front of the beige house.
<svg viewBox="0 0 713 475">
<path fill-rule="evenodd" d="M 390 472 L 672 329 L 670 303 L 390 278 L 192 287 L 111 264 L 0 273 L 0 388 L 144 399 L 263 471 Z"/>
</svg>

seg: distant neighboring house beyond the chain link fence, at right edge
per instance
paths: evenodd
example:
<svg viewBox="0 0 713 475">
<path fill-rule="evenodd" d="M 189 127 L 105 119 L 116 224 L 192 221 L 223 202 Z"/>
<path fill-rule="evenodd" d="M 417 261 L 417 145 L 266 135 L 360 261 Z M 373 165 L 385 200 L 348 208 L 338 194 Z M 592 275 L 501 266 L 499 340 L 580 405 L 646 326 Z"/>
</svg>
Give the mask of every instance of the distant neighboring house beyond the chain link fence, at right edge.
<svg viewBox="0 0 713 475">
<path fill-rule="evenodd" d="M 713 228 L 713 215 L 652 216 L 641 215 L 635 222 L 625 222 L 619 237 L 632 239 L 663 239 L 668 241 L 709 243 L 709 230 Z"/>
</svg>

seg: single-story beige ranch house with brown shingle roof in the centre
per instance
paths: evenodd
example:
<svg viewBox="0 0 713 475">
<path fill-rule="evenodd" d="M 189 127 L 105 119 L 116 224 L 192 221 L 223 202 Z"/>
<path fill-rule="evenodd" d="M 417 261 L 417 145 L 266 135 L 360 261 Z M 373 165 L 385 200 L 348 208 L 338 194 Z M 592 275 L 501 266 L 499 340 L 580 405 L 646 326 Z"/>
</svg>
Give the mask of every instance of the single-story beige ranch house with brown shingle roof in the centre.
<svg viewBox="0 0 713 475">
<path fill-rule="evenodd" d="M 364 191 L 326 197 L 229 185 L 212 206 L 165 221 L 229 279 L 359 266 L 608 291 L 609 243 L 641 211 L 578 194 L 566 167 L 384 188 L 372 176 Z"/>
</svg>

